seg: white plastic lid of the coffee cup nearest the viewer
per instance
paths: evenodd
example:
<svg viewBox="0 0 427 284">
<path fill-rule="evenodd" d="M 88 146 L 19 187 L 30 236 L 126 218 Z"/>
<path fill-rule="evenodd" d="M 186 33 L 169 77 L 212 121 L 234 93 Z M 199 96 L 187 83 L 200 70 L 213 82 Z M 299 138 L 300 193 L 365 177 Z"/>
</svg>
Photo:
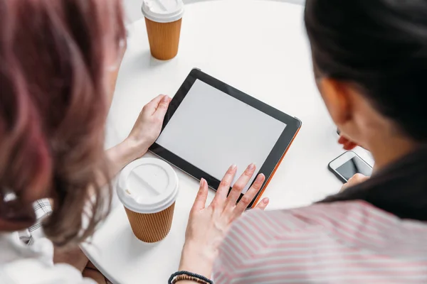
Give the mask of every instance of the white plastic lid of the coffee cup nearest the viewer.
<svg viewBox="0 0 427 284">
<path fill-rule="evenodd" d="M 122 204 L 133 212 L 157 213 L 175 202 L 178 176 L 163 160 L 135 160 L 120 173 L 117 195 Z"/>
</svg>

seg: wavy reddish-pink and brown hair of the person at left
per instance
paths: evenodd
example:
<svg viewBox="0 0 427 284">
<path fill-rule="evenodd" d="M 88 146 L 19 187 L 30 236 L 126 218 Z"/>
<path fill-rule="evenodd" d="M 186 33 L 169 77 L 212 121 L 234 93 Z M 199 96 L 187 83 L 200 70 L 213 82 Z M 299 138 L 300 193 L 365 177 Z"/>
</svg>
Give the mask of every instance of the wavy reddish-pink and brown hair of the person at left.
<svg viewBox="0 0 427 284">
<path fill-rule="evenodd" d="M 28 209 L 24 192 L 48 191 L 43 226 L 57 245 L 92 234 L 110 204 L 97 182 L 108 178 L 106 58 L 124 38 L 120 0 L 0 0 L 0 197 Z"/>
</svg>

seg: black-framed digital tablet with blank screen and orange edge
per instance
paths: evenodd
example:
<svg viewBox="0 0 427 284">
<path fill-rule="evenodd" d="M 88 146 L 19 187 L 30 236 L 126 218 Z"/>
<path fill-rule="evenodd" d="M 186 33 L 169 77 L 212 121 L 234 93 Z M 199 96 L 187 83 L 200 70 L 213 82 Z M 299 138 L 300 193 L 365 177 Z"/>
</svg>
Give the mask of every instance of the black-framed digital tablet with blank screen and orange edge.
<svg viewBox="0 0 427 284">
<path fill-rule="evenodd" d="M 260 102 L 201 70 L 191 70 L 169 104 L 162 133 L 149 149 L 216 190 L 230 165 L 235 180 L 255 163 L 265 182 L 262 195 L 301 127 L 301 121 Z"/>
</svg>

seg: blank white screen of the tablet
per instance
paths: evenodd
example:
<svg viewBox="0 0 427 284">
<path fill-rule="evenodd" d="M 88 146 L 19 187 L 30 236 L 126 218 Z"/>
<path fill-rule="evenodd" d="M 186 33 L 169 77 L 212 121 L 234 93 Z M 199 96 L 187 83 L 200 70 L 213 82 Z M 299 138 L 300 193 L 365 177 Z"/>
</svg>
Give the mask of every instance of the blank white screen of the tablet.
<svg viewBox="0 0 427 284">
<path fill-rule="evenodd" d="M 282 121 L 196 80 L 157 144 L 217 180 L 236 164 L 234 184 L 251 163 L 258 173 L 285 127 Z"/>
</svg>

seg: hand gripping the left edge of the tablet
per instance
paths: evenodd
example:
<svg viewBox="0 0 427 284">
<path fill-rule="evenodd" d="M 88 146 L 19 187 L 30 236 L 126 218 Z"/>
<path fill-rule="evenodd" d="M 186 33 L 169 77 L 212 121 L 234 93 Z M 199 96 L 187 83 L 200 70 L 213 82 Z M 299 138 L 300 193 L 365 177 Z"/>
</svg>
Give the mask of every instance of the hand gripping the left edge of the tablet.
<svg viewBox="0 0 427 284">
<path fill-rule="evenodd" d="M 135 158 L 144 155 L 159 137 L 169 102 L 171 102 L 171 98 L 160 94 L 142 108 L 132 131 L 127 137 L 127 141 L 135 146 L 135 155 L 137 155 Z"/>
</svg>

